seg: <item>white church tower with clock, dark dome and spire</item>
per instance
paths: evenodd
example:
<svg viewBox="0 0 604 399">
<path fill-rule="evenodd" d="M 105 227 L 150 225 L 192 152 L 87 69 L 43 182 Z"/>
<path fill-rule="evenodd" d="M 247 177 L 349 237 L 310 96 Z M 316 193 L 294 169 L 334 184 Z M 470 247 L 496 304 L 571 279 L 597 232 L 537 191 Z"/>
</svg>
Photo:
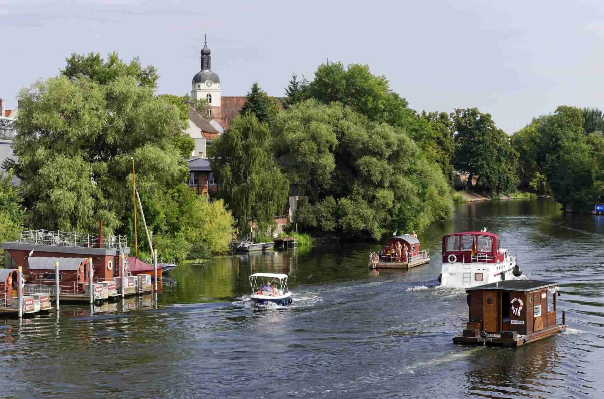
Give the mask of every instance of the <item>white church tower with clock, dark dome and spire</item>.
<svg viewBox="0 0 604 399">
<path fill-rule="evenodd" d="M 201 49 L 201 71 L 193 76 L 191 99 L 193 101 L 207 100 L 210 108 L 208 115 L 204 116 L 220 120 L 220 78 L 211 70 L 210 53 L 206 36 L 204 48 Z"/>
</svg>

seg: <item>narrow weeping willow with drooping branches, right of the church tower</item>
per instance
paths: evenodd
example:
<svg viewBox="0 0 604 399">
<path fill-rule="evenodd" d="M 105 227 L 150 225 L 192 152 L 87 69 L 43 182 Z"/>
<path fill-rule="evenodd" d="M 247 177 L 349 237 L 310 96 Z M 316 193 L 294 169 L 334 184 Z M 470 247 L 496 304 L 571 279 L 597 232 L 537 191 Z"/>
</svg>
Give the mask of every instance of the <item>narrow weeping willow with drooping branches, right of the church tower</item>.
<svg viewBox="0 0 604 399">
<path fill-rule="evenodd" d="M 268 125 L 247 112 L 212 144 L 211 168 L 242 231 L 255 222 L 265 232 L 288 198 L 289 183 L 275 164 L 271 141 Z"/>
</svg>

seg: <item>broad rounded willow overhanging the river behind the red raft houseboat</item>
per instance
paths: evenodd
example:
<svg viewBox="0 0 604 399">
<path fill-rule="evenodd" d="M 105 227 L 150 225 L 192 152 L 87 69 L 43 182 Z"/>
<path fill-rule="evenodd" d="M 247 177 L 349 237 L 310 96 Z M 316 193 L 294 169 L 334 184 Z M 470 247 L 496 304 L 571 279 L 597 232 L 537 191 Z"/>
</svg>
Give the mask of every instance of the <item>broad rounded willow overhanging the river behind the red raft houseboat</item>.
<svg viewBox="0 0 604 399">
<path fill-rule="evenodd" d="M 403 129 L 307 100 L 281 112 L 271 130 L 288 178 L 308 197 L 295 214 L 305 229 L 379 239 L 451 215 L 442 172 Z"/>
</svg>

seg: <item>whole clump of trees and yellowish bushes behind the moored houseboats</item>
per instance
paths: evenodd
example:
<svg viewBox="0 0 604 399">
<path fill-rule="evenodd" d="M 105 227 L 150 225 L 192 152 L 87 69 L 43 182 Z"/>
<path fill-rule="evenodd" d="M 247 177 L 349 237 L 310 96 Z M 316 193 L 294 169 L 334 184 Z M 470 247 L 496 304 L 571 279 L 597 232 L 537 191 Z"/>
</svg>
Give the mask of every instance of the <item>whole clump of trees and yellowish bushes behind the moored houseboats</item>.
<svg viewBox="0 0 604 399">
<path fill-rule="evenodd" d="M 183 259 L 226 250 L 232 216 L 221 201 L 190 192 L 185 161 L 194 148 L 184 131 L 187 105 L 155 96 L 158 74 L 138 59 L 98 54 L 66 59 L 60 76 L 19 94 L 18 163 L 25 225 L 33 229 L 126 233 L 133 243 L 132 159 L 158 255 Z M 211 221 L 211 223 L 210 223 Z M 149 251 L 138 227 L 141 251 Z"/>
</svg>

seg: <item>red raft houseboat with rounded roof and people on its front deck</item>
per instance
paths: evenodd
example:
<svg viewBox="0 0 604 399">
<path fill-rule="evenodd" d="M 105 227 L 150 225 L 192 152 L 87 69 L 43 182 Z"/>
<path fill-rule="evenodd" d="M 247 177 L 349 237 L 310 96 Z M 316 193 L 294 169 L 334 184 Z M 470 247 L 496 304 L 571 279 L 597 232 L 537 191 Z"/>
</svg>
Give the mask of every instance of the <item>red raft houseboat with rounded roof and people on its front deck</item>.
<svg viewBox="0 0 604 399">
<path fill-rule="evenodd" d="M 402 250 L 397 251 L 397 244 L 400 244 Z M 406 250 L 406 257 L 405 257 Z M 372 267 L 371 258 L 373 253 L 369 255 L 369 267 Z M 379 261 L 376 268 L 396 268 L 408 269 L 430 262 L 430 251 L 420 251 L 420 242 L 416 237 L 405 234 L 402 236 L 394 236 L 384 244 L 384 249 L 377 253 Z"/>
</svg>

